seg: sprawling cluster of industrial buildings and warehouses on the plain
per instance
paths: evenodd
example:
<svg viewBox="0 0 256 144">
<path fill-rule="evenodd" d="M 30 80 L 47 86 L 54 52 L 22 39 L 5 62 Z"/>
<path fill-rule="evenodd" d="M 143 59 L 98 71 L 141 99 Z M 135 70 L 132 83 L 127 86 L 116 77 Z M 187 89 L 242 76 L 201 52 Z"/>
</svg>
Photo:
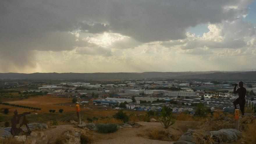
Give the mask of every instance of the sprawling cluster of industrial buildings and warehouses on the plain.
<svg viewBox="0 0 256 144">
<path fill-rule="evenodd" d="M 81 90 L 80 87 L 90 90 Z M 94 90 L 91 90 L 92 88 Z M 210 82 L 196 81 L 124 81 L 104 85 L 76 82 L 46 85 L 38 89 L 49 91 L 49 96 L 77 97 L 87 99 L 90 104 L 96 105 L 118 107 L 125 103 L 126 109 L 138 111 L 161 111 L 163 106 L 168 106 L 174 113 L 186 110 L 193 113 L 197 103 L 203 103 L 211 110 L 231 112 L 234 109 L 233 101 L 238 96 L 232 94 L 233 86 L 229 84 L 214 85 Z M 256 88 L 247 90 L 256 93 Z M 170 101 L 176 102 L 171 104 Z M 256 103 L 256 97 L 255 101 L 248 98 L 247 102 Z"/>
</svg>

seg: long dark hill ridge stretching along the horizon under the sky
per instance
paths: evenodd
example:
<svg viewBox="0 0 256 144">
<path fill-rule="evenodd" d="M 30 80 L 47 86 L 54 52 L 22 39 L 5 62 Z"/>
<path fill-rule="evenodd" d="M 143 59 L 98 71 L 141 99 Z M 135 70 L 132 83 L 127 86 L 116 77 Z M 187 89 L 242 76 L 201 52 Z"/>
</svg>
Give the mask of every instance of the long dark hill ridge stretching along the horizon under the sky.
<svg viewBox="0 0 256 144">
<path fill-rule="evenodd" d="M 0 73 L 0 79 L 221 79 L 256 80 L 256 72 Z"/>
</svg>

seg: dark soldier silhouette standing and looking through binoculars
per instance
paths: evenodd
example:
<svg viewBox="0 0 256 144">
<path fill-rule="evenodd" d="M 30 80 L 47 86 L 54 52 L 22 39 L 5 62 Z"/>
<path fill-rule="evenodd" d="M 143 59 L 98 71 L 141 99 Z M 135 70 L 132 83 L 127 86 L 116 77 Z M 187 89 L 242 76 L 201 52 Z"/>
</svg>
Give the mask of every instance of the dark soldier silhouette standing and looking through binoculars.
<svg viewBox="0 0 256 144">
<path fill-rule="evenodd" d="M 238 88 L 238 89 L 237 89 L 237 83 L 235 83 L 233 85 L 235 86 L 233 93 L 234 94 L 238 93 L 238 95 L 239 95 L 239 97 L 233 102 L 233 104 L 235 106 L 235 109 L 237 109 L 237 104 L 239 104 L 240 110 L 241 110 L 242 115 L 243 115 L 244 114 L 246 89 L 243 87 L 243 82 L 242 81 L 239 82 L 239 87 L 240 88 Z"/>
</svg>

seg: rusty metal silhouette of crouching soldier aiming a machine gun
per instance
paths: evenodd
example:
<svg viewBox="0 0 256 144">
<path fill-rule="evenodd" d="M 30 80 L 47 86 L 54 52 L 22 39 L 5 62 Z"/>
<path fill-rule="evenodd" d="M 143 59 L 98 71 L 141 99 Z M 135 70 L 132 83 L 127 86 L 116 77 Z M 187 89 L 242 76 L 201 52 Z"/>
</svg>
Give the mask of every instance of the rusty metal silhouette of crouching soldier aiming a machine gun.
<svg viewBox="0 0 256 144">
<path fill-rule="evenodd" d="M 17 110 L 15 110 L 15 111 L 13 112 L 14 115 L 13 115 L 13 118 L 12 118 L 12 120 L 11 120 L 11 121 L 12 121 L 11 134 L 12 134 L 13 136 L 17 136 L 17 135 L 19 135 L 20 133 L 23 133 L 23 132 L 24 132 L 24 131 L 20 128 L 20 127 L 22 127 L 23 125 L 26 126 L 26 128 L 27 128 L 27 130 L 28 130 L 28 133 L 29 133 L 29 134 L 31 133 L 31 131 L 30 131 L 30 129 L 29 129 L 29 126 L 28 126 L 28 124 L 27 124 L 26 115 L 29 115 L 29 114 L 31 114 L 32 112 L 34 112 L 34 111 L 24 112 L 24 113 L 22 113 L 22 114 L 18 114 Z M 22 123 L 19 125 L 19 128 L 17 128 L 17 124 L 19 124 L 19 119 L 20 119 L 21 117 L 23 117 L 23 121 L 22 121 Z"/>
</svg>

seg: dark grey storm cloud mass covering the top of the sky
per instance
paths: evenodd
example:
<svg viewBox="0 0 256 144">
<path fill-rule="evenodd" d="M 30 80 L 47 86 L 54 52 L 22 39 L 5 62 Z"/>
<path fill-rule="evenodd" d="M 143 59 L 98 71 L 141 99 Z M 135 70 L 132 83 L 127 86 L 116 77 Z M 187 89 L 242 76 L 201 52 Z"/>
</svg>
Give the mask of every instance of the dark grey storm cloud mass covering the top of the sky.
<svg viewBox="0 0 256 144">
<path fill-rule="evenodd" d="M 76 30 L 91 34 L 111 31 L 139 42 L 184 39 L 186 29 L 190 26 L 220 23 L 247 14 L 250 2 L 1 0 L 0 59 L 16 67 L 33 66 L 33 50 L 63 51 L 90 47 L 87 42 L 77 41 L 69 33 Z"/>
</svg>

